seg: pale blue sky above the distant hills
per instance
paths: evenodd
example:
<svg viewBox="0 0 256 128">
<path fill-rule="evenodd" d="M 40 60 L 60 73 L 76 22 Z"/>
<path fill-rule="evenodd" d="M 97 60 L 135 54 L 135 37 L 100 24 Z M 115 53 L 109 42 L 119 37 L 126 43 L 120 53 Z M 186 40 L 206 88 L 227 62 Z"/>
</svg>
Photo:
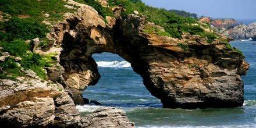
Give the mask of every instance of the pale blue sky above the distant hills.
<svg viewBox="0 0 256 128">
<path fill-rule="evenodd" d="M 165 9 L 186 10 L 198 16 L 256 19 L 256 0 L 141 0 Z"/>
</svg>

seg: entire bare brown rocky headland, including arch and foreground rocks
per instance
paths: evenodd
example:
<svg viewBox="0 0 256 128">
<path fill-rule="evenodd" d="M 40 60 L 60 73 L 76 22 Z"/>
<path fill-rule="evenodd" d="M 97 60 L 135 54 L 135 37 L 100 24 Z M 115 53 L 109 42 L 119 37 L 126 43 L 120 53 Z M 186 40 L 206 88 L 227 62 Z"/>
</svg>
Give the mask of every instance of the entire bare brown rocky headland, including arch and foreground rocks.
<svg viewBox="0 0 256 128">
<path fill-rule="evenodd" d="M 226 37 L 205 24 L 198 22 L 191 26 L 207 31 L 207 36 L 182 33 L 173 38 L 166 34 L 165 28 L 149 22 L 147 16 L 136 10 L 123 16 L 122 5 L 112 8 L 115 16 L 104 19 L 91 6 L 72 0 L 67 3 L 69 8 L 75 6 L 77 10 L 65 13 L 62 22 L 51 26 L 48 44 L 41 45 L 38 38 L 31 41 L 30 52 L 51 54 L 54 59 L 44 69 L 47 79 L 23 68 L 19 58 L 1 51 L 2 63 L 11 58 L 23 74 L 15 79 L 1 77 L 1 126 L 134 127 L 120 109 L 98 109 L 81 116 L 75 108 L 83 104 L 83 90 L 100 78 L 92 55 L 102 52 L 118 54 L 130 62 L 147 90 L 165 108 L 243 105 L 241 75 L 246 74 L 248 63 Z M 100 3 L 107 5 L 107 1 Z M 3 67 L 1 73 L 8 70 Z"/>
</svg>

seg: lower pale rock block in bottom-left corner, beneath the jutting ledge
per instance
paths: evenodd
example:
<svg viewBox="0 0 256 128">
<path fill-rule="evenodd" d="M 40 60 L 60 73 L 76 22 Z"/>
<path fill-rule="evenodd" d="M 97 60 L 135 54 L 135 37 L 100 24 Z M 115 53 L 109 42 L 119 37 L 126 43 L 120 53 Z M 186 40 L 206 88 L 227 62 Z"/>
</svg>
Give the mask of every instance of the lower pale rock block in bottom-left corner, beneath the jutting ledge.
<svg viewBox="0 0 256 128">
<path fill-rule="evenodd" d="M 0 123 L 6 126 L 47 126 L 54 122 L 54 108 L 52 98 L 35 97 L 6 109 Z"/>
</svg>

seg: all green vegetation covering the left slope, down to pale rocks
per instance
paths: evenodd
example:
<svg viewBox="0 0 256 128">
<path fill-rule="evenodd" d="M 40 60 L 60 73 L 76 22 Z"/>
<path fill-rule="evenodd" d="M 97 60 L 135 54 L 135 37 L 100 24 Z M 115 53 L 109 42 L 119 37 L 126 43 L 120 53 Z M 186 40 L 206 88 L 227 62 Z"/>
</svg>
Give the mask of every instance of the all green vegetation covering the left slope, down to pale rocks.
<svg viewBox="0 0 256 128">
<path fill-rule="evenodd" d="M 22 58 L 20 66 L 13 57 L 0 62 L 1 79 L 15 80 L 17 76 L 23 76 L 22 67 L 33 70 L 42 79 L 47 79 L 45 67 L 55 65 L 54 54 L 35 54 L 30 51 L 31 46 L 25 40 L 37 37 L 45 40 L 49 28 L 42 21 L 47 19 L 55 23 L 62 19 L 64 13 L 73 12 L 72 9 L 64 7 L 66 4 L 61 0 L 0 0 L 0 11 L 11 16 L 8 21 L 0 22 L 0 47 L 3 48 L 0 53 L 9 52 L 14 57 Z M 49 17 L 45 17 L 46 13 Z M 41 41 L 40 46 L 47 43 L 48 40 Z"/>
</svg>

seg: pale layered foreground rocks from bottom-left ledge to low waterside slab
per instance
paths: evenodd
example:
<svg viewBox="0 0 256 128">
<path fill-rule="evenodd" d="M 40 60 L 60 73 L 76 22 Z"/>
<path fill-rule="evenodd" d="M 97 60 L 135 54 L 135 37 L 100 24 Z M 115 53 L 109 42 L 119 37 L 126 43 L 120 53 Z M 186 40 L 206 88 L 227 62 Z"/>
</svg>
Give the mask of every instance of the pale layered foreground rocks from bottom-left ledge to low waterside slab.
<svg viewBox="0 0 256 128">
<path fill-rule="evenodd" d="M 16 81 L 0 80 L 2 127 L 134 127 L 125 112 L 115 108 L 81 117 L 61 84 L 41 80 L 33 71 L 24 72 L 26 76 Z"/>
</svg>

